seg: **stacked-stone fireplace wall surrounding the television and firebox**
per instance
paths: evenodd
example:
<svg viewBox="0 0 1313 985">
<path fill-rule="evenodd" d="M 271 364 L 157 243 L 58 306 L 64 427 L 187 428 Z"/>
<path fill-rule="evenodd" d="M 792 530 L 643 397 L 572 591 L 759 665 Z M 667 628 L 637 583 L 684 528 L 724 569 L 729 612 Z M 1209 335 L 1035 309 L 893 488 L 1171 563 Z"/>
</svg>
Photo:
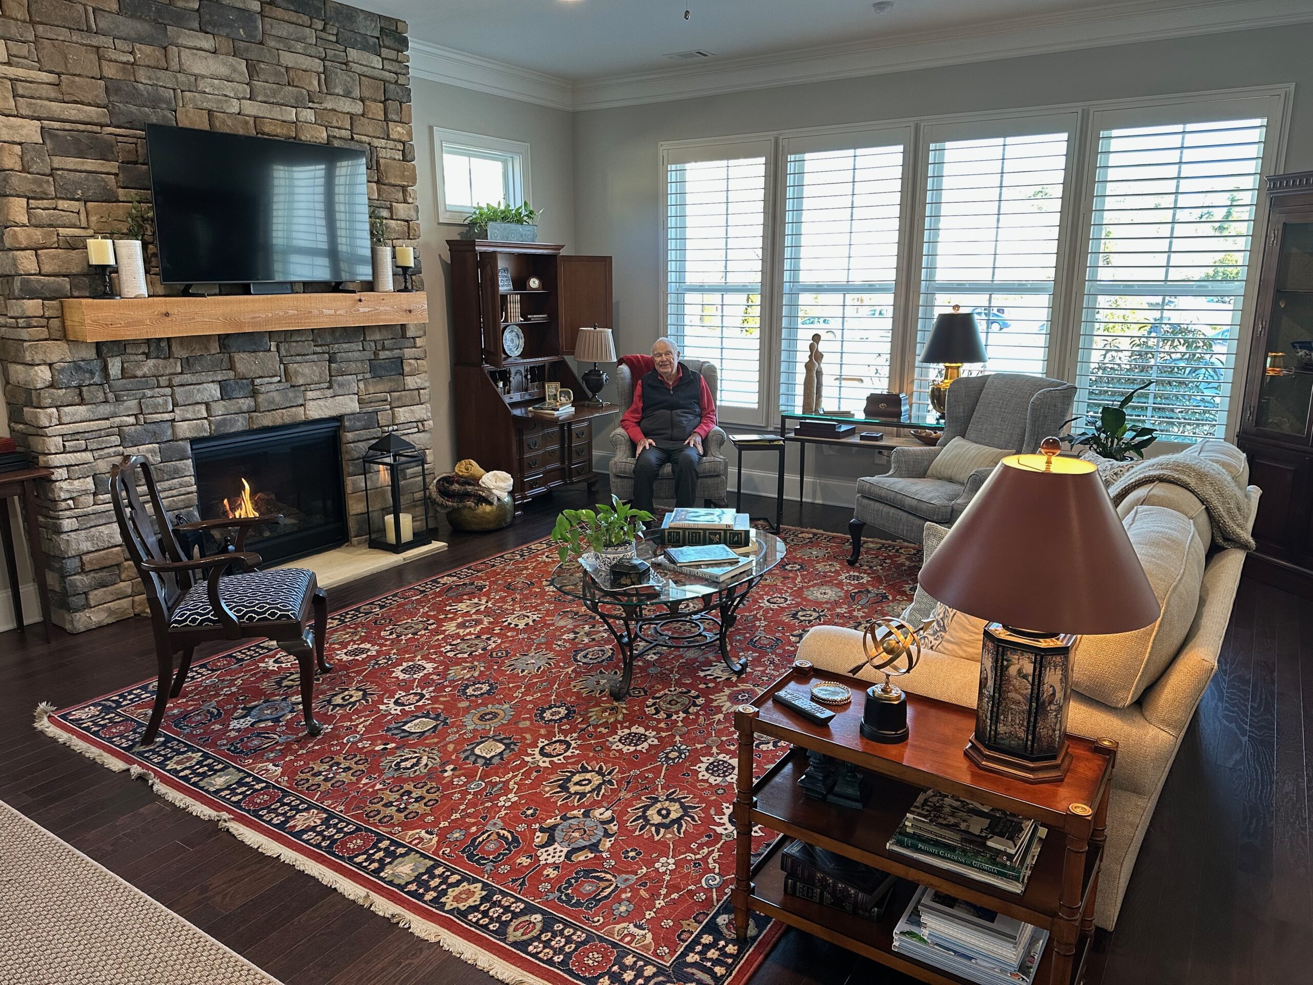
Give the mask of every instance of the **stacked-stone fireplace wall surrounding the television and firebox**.
<svg viewBox="0 0 1313 985">
<path fill-rule="evenodd" d="M 171 514 L 213 514 L 193 441 L 335 422 L 362 538 L 365 449 L 389 429 L 431 445 L 424 324 L 84 343 L 60 301 L 98 293 L 87 238 L 123 236 L 150 202 L 148 122 L 358 147 L 386 239 L 415 243 L 406 25 L 334 0 L 0 3 L 0 365 L 11 433 L 54 471 L 38 506 L 55 621 L 144 611 L 108 496 L 123 454 L 155 462 Z M 154 259 L 147 236 L 151 294 L 169 293 Z"/>
</svg>

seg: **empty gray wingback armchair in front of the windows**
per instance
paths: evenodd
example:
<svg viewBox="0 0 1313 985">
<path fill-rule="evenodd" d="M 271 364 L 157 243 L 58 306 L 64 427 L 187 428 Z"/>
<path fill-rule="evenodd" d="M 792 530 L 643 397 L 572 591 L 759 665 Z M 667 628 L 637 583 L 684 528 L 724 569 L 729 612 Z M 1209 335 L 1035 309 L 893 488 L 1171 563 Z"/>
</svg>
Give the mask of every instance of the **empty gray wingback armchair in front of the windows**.
<svg viewBox="0 0 1313 985">
<path fill-rule="evenodd" d="M 956 436 L 990 448 L 1039 450 L 1071 416 L 1075 387 L 1061 380 L 1020 373 L 962 377 L 948 390 L 944 435 L 932 448 L 895 448 L 884 475 L 857 479 L 857 502 L 848 523 L 850 565 L 861 556 L 861 529 L 869 523 L 920 544 L 927 521 L 944 527 L 962 515 L 993 468 L 977 469 L 966 485 L 928 478 L 930 464 Z"/>
</svg>

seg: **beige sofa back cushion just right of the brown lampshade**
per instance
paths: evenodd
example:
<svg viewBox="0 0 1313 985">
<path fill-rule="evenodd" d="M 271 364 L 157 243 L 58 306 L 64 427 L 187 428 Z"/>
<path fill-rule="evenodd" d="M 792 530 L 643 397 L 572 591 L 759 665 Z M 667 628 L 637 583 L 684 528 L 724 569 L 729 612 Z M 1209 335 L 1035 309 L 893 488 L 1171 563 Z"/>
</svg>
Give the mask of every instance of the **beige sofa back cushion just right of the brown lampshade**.
<svg viewBox="0 0 1313 985">
<path fill-rule="evenodd" d="M 1082 636 L 1071 653 L 1071 686 L 1112 708 L 1125 708 L 1175 659 L 1204 578 L 1204 544 L 1194 524 L 1161 506 L 1138 506 L 1121 521 L 1162 607 L 1158 621 L 1130 633 Z"/>
</svg>

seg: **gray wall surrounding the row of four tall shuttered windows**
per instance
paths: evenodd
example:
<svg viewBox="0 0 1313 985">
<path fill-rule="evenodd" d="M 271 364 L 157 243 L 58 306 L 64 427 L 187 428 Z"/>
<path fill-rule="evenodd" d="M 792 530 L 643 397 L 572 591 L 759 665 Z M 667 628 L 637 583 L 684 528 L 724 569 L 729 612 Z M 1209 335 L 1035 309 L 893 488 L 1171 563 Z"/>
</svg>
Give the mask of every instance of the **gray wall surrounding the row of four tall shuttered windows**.
<svg viewBox="0 0 1313 985">
<path fill-rule="evenodd" d="M 1295 83 L 1283 169 L 1313 169 L 1310 50 L 1305 24 L 575 113 L 578 251 L 614 257 L 617 349 L 634 352 L 660 334 L 660 141 Z M 809 477 L 830 481 L 807 499 L 851 502 L 873 458 L 813 447 Z"/>
</svg>

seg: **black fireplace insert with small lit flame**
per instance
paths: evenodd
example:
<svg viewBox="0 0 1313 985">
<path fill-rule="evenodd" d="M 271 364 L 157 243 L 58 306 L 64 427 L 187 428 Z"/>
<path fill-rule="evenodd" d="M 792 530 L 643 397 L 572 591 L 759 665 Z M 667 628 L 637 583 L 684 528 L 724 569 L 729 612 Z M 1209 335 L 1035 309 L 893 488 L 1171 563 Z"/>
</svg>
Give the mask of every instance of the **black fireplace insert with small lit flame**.
<svg viewBox="0 0 1313 985">
<path fill-rule="evenodd" d="M 261 567 L 349 540 L 341 468 L 341 422 L 306 420 L 192 441 L 202 519 L 281 514 L 281 525 L 253 528 L 246 549 Z"/>
</svg>

